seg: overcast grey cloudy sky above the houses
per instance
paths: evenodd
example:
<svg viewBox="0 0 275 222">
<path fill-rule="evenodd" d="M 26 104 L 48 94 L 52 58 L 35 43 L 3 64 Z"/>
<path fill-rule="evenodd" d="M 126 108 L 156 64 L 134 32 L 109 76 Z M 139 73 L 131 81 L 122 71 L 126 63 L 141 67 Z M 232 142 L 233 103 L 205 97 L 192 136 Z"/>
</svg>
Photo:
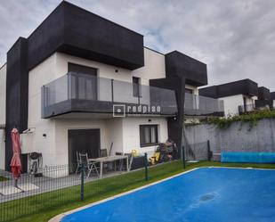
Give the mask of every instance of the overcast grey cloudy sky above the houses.
<svg viewBox="0 0 275 222">
<path fill-rule="evenodd" d="M 0 65 L 60 0 L 0 0 Z M 69 0 L 207 64 L 209 85 L 251 78 L 275 91 L 275 0 Z"/>
</svg>

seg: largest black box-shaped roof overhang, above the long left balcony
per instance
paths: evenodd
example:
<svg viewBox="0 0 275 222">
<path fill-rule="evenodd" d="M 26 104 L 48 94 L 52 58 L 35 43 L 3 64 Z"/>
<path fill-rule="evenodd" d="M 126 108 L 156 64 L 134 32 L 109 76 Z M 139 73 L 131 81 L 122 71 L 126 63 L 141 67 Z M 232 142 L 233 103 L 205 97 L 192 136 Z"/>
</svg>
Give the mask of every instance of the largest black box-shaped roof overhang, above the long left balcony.
<svg viewBox="0 0 275 222">
<path fill-rule="evenodd" d="M 129 70 L 144 66 L 141 34 L 68 2 L 28 37 L 28 69 L 55 51 Z"/>
</svg>

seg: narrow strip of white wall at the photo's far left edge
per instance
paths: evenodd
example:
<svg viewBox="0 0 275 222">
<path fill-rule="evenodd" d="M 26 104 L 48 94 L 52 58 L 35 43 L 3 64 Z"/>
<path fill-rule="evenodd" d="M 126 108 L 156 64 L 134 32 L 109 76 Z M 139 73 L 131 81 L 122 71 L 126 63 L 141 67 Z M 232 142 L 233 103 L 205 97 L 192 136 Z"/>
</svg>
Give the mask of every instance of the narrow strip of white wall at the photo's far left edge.
<svg viewBox="0 0 275 222">
<path fill-rule="evenodd" d="M 0 70 L 0 125 L 5 124 L 6 64 Z"/>
</svg>

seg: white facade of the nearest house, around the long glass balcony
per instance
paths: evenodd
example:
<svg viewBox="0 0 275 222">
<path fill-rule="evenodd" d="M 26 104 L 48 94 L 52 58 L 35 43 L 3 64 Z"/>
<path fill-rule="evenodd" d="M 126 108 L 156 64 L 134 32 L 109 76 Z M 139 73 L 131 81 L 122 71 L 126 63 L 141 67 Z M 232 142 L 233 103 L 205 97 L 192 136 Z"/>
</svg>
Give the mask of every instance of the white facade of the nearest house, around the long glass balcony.
<svg viewBox="0 0 275 222">
<path fill-rule="evenodd" d="M 72 62 L 98 69 L 98 77 L 113 78 L 132 83 L 133 77 L 141 78 L 141 84 L 149 86 L 150 78 L 165 78 L 165 56 L 144 48 L 144 67 L 138 70 L 125 70 L 114 66 L 93 62 L 65 53 L 53 53 L 44 62 L 28 73 L 28 127 L 33 133 L 22 136 L 23 152 L 42 152 L 44 165 L 68 164 L 68 130 L 99 128 L 101 131 L 101 149 L 107 149 L 113 143 L 115 152 L 150 152 L 155 146 L 141 148 L 139 126 L 141 124 L 158 125 L 158 142 L 167 139 L 166 118 L 112 118 L 96 114 L 81 118 L 59 117 L 41 118 L 41 87 L 60 78 L 68 72 L 68 63 Z M 117 70 L 117 72 L 116 72 Z M 62 94 L 60 95 L 62 96 Z M 151 121 L 149 122 L 149 119 Z"/>
</svg>

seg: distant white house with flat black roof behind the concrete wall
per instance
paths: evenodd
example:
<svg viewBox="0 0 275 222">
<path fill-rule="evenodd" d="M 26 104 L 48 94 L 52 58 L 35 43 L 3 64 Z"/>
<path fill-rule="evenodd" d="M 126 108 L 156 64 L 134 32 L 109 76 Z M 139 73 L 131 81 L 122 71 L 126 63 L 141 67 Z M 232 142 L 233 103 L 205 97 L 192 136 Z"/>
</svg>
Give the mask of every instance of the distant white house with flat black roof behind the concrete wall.
<svg viewBox="0 0 275 222">
<path fill-rule="evenodd" d="M 270 103 L 269 89 L 258 87 L 257 83 L 248 78 L 200 88 L 199 95 L 222 100 L 227 117 L 263 109 L 269 107 Z"/>
</svg>

